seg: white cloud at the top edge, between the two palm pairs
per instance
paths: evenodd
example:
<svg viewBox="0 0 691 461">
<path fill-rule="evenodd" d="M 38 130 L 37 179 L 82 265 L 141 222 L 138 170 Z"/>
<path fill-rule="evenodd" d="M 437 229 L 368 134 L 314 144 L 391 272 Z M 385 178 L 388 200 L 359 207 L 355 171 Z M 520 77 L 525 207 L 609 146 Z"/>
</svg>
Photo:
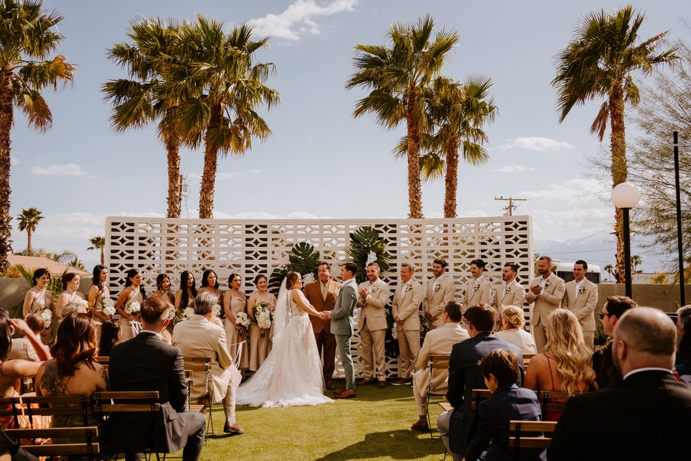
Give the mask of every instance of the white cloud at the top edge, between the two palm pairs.
<svg viewBox="0 0 691 461">
<path fill-rule="evenodd" d="M 278 15 L 269 14 L 248 22 L 254 26 L 258 35 L 271 35 L 290 40 L 299 40 L 301 35 L 309 32 L 319 34 L 319 24 L 312 17 L 335 15 L 343 11 L 352 11 L 359 0 L 334 0 L 320 4 L 315 0 L 297 0 Z"/>
</svg>

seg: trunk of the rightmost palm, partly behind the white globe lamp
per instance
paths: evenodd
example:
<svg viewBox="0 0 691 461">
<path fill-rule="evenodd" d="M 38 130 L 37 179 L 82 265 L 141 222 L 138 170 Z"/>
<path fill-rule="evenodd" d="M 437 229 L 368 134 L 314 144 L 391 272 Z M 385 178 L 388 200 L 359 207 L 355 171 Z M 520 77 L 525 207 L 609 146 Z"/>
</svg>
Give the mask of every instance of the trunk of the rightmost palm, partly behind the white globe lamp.
<svg viewBox="0 0 691 461">
<path fill-rule="evenodd" d="M 625 182 L 628 176 L 626 166 L 626 139 L 624 129 L 624 91 L 621 84 L 614 85 L 609 94 L 609 135 L 612 150 L 612 187 Z M 616 234 L 616 281 L 624 283 L 624 222 L 621 209 L 614 212 L 614 233 Z"/>
</svg>

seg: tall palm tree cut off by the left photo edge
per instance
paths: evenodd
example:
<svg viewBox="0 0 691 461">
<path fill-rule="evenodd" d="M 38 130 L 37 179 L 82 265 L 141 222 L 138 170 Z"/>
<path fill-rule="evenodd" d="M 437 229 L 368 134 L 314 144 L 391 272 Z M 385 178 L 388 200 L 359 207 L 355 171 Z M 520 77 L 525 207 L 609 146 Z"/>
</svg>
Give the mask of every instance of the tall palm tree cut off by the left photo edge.
<svg viewBox="0 0 691 461">
<path fill-rule="evenodd" d="M 57 89 L 74 78 L 75 67 L 66 57 L 48 56 L 63 39 L 56 28 L 63 18 L 47 13 L 41 1 L 0 2 L 0 267 L 6 266 L 10 250 L 10 131 L 15 106 L 29 126 L 46 131 L 53 114 L 41 90 Z"/>
</svg>

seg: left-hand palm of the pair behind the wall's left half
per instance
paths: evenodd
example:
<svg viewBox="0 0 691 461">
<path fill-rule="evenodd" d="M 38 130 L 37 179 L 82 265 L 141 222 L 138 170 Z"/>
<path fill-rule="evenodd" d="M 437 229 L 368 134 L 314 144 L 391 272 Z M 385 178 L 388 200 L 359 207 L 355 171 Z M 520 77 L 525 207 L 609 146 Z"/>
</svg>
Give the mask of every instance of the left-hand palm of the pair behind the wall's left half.
<svg viewBox="0 0 691 461">
<path fill-rule="evenodd" d="M 108 58 L 129 73 L 129 79 L 108 80 L 102 86 L 106 100 L 113 102 L 111 123 L 115 131 L 124 131 L 158 121 L 158 135 L 168 153 L 167 216 L 179 218 L 180 136 L 171 121 L 178 100 L 165 91 L 164 77 L 182 55 L 179 26 L 173 20 L 138 18 L 130 22 L 126 35 L 131 43 L 114 44 L 107 50 Z"/>
</svg>

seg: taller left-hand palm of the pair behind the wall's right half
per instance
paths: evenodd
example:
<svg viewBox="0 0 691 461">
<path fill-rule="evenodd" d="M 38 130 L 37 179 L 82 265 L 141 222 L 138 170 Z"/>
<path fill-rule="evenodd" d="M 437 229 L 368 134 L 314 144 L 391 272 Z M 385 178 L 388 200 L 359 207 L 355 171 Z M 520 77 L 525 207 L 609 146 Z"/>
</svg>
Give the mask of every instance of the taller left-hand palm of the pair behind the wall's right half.
<svg viewBox="0 0 691 461">
<path fill-rule="evenodd" d="M 409 218 L 422 218 L 420 188 L 420 146 L 428 131 L 424 90 L 439 75 L 446 55 L 458 43 L 456 32 L 442 29 L 430 42 L 434 19 L 430 15 L 417 23 L 395 23 L 388 37 L 390 45 L 357 45 L 355 73 L 345 88 L 370 89 L 370 94 L 355 104 L 354 117 L 371 112 L 377 122 L 393 129 L 405 120 L 408 132 Z"/>
</svg>

